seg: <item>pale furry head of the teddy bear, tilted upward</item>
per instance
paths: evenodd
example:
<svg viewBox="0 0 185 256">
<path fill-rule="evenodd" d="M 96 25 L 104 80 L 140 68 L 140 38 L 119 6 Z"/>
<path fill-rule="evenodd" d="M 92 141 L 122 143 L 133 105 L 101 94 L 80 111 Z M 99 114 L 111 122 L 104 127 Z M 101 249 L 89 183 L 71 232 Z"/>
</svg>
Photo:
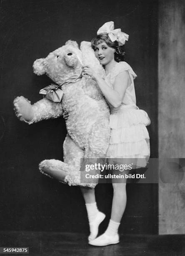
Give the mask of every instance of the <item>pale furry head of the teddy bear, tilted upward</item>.
<svg viewBox="0 0 185 256">
<path fill-rule="evenodd" d="M 82 53 L 75 41 L 67 41 L 64 46 L 50 52 L 46 58 L 33 63 L 33 72 L 47 74 L 52 81 L 61 85 L 70 77 L 78 77 L 82 72 Z"/>
</svg>

